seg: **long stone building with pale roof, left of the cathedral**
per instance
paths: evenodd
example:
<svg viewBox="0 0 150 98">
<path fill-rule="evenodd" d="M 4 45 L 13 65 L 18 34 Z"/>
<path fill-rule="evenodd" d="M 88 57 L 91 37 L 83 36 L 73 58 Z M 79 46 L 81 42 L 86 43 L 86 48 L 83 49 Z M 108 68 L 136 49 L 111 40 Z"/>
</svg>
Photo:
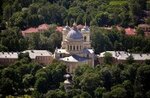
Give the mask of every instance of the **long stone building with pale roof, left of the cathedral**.
<svg viewBox="0 0 150 98">
<path fill-rule="evenodd" d="M 48 65 L 53 61 L 53 55 L 47 50 L 25 50 L 33 62 Z M 0 52 L 0 65 L 10 65 L 18 60 L 19 52 Z"/>
</svg>

